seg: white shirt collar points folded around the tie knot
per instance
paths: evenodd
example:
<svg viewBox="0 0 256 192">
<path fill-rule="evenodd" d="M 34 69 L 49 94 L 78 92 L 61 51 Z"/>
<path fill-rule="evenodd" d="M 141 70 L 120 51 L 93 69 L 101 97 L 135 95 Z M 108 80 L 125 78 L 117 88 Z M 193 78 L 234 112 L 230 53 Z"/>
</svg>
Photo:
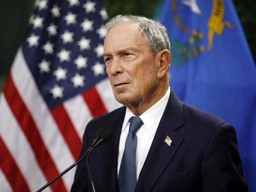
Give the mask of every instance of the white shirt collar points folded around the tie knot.
<svg viewBox="0 0 256 192">
<path fill-rule="evenodd" d="M 164 114 L 164 110 L 170 97 L 170 92 L 171 89 L 170 87 L 168 87 L 168 90 L 166 91 L 164 96 L 152 107 L 150 107 L 148 110 L 146 110 L 143 114 L 140 115 L 140 118 L 143 121 L 146 130 L 149 132 L 151 136 L 153 136 L 154 133 L 156 132 L 158 124 L 162 118 L 162 115 Z M 132 116 L 134 116 L 134 114 L 126 107 L 126 113 L 124 117 L 125 126 L 123 127 L 121 134 L 124 132 L 126 127 L 128 127 L 127 124 Z"/>
</svg>

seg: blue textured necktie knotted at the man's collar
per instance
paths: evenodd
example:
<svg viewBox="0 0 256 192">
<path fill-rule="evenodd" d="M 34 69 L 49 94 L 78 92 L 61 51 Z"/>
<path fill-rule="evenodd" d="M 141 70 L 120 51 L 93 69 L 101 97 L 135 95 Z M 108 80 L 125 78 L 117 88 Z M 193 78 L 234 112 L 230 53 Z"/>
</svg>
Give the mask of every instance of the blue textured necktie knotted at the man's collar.
<svg viewBox="0 0 256 192">
<path fill-rule="evenodd" d="M 125 141 L 124 154 L 122 157 L 119 174 L 118 174 L 118 191 L 134 192 L 136 177 L 136 148 L 137 136 L 135 132 L 142 126 L 143 122 L 140 117 L 133 116 L 130 118 L 130 128 Z"/>
</svg>

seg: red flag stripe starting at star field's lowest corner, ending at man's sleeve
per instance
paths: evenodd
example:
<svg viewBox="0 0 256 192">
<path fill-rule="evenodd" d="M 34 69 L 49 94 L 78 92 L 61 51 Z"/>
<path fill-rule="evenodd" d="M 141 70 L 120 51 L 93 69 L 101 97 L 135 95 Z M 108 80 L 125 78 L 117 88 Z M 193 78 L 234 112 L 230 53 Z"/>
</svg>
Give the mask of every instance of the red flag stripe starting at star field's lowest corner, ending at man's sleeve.
<svg viewBox="0 0 256 192">
<path fill-rule="evenodd" d="M 82 148 L 82 141 L 79 138 L 64 106 L 60 105 L 52 109 L 51 112 L 56 123 L 58 124 L 60 132 L 70 148 L 71 153 L 73 154 L 74 158 L 78 160 L 80 149 Z"/>
</svg>

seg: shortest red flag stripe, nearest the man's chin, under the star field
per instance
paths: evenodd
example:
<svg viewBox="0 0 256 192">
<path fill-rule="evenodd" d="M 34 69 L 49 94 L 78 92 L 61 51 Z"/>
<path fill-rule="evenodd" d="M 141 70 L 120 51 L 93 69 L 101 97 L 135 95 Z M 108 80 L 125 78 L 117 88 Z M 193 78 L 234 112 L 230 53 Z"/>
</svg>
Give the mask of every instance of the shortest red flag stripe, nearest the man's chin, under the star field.
<svg viewBox="0 0 256 192">
<path fill-rule="evenodd" d="M 100 95 L 97 90 L 93 87 L 90 90 L 82 94 L 87 106 L 90 109 L 90 112 L 94 118 L 103 115 L 107 112 Z"/>
</svg>

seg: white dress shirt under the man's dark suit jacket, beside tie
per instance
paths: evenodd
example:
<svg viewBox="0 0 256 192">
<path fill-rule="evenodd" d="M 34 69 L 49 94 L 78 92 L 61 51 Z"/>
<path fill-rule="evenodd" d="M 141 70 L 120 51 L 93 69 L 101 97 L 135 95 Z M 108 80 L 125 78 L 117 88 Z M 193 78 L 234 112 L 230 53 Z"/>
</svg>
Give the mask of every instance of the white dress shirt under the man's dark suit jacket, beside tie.
<svg viewBox="0 0 256 192">
<path fill-rule="evenodd" d="M 166 91 L 166 94 L 140 115 L 143 125 L 136 132 L 137 136 L 137 150 L 136 150 L 136 169 L 137 169 L 137 181 L 142 169 L 142 166 L 148 155 L 148 151 L 156 134 L 156 129 L 158 128 L 159 122 L 162 118 L 164 110 L 166 108 L 168 99 L 170 97 L 170 87 Z M 119 149 L 118 149 L 118 164 L 117 164 L 117 175 L 119 174 L 120 164 L 122 161 L 122 156 L 124 153 L 125 141 L 129 132 L 130 118 L 134 116 L 132 112 L 126 108 L 126 113 L 124 117 L 124 123 L 122 126 L 122 132 L 120 135 Z"/>
</svg>

